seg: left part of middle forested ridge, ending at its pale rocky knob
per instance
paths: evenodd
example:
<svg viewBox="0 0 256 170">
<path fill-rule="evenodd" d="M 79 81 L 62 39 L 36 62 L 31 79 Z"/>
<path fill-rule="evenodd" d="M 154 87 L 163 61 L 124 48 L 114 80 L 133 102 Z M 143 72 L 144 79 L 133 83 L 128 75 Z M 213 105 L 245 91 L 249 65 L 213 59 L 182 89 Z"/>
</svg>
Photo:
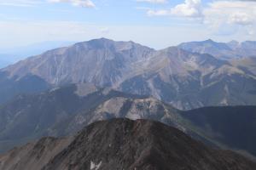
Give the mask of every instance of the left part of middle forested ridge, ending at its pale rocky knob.
<svg viewBox="0 0 256 170">
<path fill-rule="evenodd" d="M 88 83 L 20 95 L 0 107 L 0 151 L 42 136 L 75 133 L 98 120 L 126 116 L 164 121 L 176 111 L 157 99 Z"/>
</svg>

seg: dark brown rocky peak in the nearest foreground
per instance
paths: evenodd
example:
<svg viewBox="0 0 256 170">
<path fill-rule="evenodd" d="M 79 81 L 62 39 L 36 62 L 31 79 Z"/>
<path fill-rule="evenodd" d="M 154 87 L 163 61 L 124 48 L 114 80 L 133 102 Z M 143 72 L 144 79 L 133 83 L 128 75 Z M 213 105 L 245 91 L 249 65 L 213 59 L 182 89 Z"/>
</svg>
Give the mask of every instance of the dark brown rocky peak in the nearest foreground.
<svg viewBox="0 0 256 170">
<path fill-rule="evenodd" d="M 26 144 L 0 156 L 0 162 L 3 170 L 256 168 L 253 161 L 228 150 L 212 150 L 176 128 L 128 119 L 95 122 L 74 139 L 44 138 Z"/>
</svg>

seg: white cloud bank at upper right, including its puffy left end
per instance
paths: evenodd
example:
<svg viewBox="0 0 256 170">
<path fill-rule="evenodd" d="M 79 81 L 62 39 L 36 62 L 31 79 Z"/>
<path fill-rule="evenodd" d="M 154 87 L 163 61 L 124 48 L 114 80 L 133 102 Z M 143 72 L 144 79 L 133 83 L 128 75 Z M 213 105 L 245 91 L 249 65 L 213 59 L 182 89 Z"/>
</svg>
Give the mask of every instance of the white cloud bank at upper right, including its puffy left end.
<svg viewBox="0 0 256 170">
<path fill-rule="evenodd" d="M 221 31 L 224 28 L 233 32 L 241 30 L 242 27 L 248 34 L 253 34 L 256 29 L 255 2 L 256 0 L 224 0 L 203 5 L 201 0 L 185 0 L 184 3 L 168 9 L 148 9 L 147 14 L 148 16 L 183 17 L 189 20 L 200 19 L 212 30 Z"/>
</svg>

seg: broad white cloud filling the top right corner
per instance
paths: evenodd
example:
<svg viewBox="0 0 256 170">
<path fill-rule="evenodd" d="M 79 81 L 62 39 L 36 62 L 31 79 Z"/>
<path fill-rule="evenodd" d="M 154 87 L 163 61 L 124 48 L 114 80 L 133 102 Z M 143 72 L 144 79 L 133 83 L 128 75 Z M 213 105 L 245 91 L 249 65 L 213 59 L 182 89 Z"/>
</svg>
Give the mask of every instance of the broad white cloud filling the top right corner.
<svg viewBox="0 0 256 170">
<path fill-rule="evenodd" d="M 212 31 L 223 29 L 251 36 L 256 29 L 256 3 L 249 1 L 215 1 L 203 9 L 204 23 Z"/>
</svg>

